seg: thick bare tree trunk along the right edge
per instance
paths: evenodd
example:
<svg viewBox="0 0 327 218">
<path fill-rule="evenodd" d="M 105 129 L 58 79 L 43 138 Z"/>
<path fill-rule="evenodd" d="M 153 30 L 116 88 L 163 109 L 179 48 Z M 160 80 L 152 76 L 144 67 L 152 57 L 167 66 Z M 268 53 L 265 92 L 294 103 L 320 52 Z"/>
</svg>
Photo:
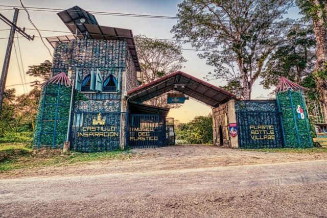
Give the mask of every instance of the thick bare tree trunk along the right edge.
<svg viewBox="0 0 327 218">
<path fill-rule="evenodd" d="M 313 0 L 314 6 L 319 6 L 318 0 Z M 325 11 L 327 11 L 327 6 L 324 6 Z M 326 58 L 327 58 L 327 44 L 326 44 L 326 27 L 324 24 L 324 15 L 321 10 L 317 10 L 316 16 L 313 18 L 313 30 L 317 41 L 317 60 L 314 68 L 314 78 L 317 84 L 317 89 L 319 91 L 319 101 L 322 106 L 322 116 L 324 122 L 327 122 L 327 90 L 326 85 L 327 81 L 325 81 L 321 76 L 319 76 L 319 72 L 326 71 Z"/>
</svg>

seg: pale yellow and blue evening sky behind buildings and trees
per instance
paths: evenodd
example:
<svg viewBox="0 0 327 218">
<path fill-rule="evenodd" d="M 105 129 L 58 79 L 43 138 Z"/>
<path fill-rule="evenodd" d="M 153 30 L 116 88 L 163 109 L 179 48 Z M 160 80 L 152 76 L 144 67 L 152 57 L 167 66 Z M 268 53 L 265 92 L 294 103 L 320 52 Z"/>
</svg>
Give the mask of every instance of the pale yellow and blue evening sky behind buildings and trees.
<svg viewBox="0 0 327 218">
<path fill-rule="evenodd" d="M 182 2 L 181 0 L 24 0 L 23 3 L 27 7 L 44 7 L 44 8 L 58 8 L 58 9 L 68 9 L 75 5 L 80 6 L 87 11 L 104 11 L 104 12 L 115 12 L 115 13 L 130 13 L 130 14 L 147 14 L 147 15 L 163 15 L 163 16 L 175 16 L 177 13 L 177 4 Z M 20 6 L 19 0 L 1 0 L 0 5 L 9 5 L 9 6 Z M 10 9 L 8 7 L 0 6 L 0 13 L 5 15 L 8 19 L 12 20 L 13 10 L 4 10 Z M 68 31 L 66 26 L 60 20 L 56 12 L 41 12 L 41 11 L 30 11 L 31 19 L 35 23 L 38 29 L 44 30 L 56 30 L 56 31 Z M 172 39 L 173 34 L 170 33 L 173 25 L 176 24 L 175 19 L 157 19 L 157 18 L 139 18 L 139 17 L 123 17 L 123 16 L 108 16 L 108 15 L 95 15 L 99 24 L 102 26 L 109 27 L 118 27 L 124 29 L 131 29 L 134 35 L 144 34 L 149 38 L 164 38 Z M 297 8 L 291 8 L 289 17 L 297 18 L 298 10 Z M 28 22 L 27 14 L 24 10 L 19 11 L 18 27 L 33 28 L 32 25 Z M 0 20 L 0 67 L 3 67 L 3 60 L 6 53 L 7 47 L 7 38 L 9 36 L 9 26 L 7 26 L 2 20 Z M 30 35 L 37 32 L 34 30 L 26 30 Z M 58 36 L 58 35 L 67 35 L 65 33 L 54 33 L 54 32 L 41 32 L 43 37 L 48 36 Z M 44 60 L 52 61 L 52 58 L 42 44 L 40 38 L 35 38 L 34 41 L 28 41 L 25 38 L 15 38 L 16 52 L 18 56 L 18 61 L 15 55 L 15 50 L 13 47 L 9 72 L 7 77 L 6 86 L 8 88 L 16 88 L 17 94 L 22 94 L 26 91 L 30 91 L 31 87 L 28 85 L 17 85 L 24 83 L 24 77 L 20 77 L 19 69 L 21 72 L 26 72 L 28 66 L 38 65 Z M 20 45 L 21 57 L 19 56 L 18 43 Z M 53 48 L 50 44 L 45 41 L 45 43 L 53 52 Z M 191 49 L 192 47 L 189 44 L 183 44 L 185 49 Z M 199 59 L 197 52 L 195 51 L 183 51 L 183 56 L 188 60 L 181 69 L 182 71 L 190 74 L 194 77 L 202 79 L 209 71 L 213 71 L 214 67 L 208 66 L 205 64 L 205 60 Z M 19 66 L 17 64 L 19 63 Z M 22 66 L 21 63 L 22 62 Z M 26 82 L 32 82 L 35 78 L 30 76 L 25 76 Z M 23 81 L 23 82 L 22 82 Z M 222 80 L 212 80 L 210 81 L 213 85 L 219 86 L 224 85 Z M 269 93 L 272 90 L 265 90 L 259 84 L 260 80 L 256 81 L 253 85 L 252 99 L 259 99 L 262 96 L 268 98 Z M 13 86 L 15 85 L 15 86 Z M 182 107 L 178 109 L 171 109 L 168 114 L 170 117 L 178 119 L 180 122 L 185 123 L 189 122 L 195 116 L 198 115 L 208 115 L 212 109 L 202 103 L 199 103 L 194 100 L 186 101 Z"/>
</svg>

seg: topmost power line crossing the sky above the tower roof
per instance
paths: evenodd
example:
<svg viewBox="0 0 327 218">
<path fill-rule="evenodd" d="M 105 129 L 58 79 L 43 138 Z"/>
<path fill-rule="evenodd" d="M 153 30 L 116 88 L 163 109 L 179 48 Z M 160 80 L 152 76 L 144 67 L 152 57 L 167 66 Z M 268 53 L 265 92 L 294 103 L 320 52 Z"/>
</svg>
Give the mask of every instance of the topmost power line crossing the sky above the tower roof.
<svg viewBox="0 0 327 218">
<path fill-rule="evenodd" d="M 21 1 L 21 0 L 20 0 Z M 20 6 L 10 6 L 10 5 L 0 5 L 0 7 L 16 7 L 21 8 Z M 24 7 L 29 8 L 30 11 L 43 11 L 43 12 L 60 12 L 60 11 L 79 11 L 73 9 L 59 9 L 59 8 L 42 8 L 42 7 Z M 92 14 L 97 15 L 111 15 L 111 16 L 127 16 L 127 17 L 143 17 L 143 18 L 159 18 L 159 19 L 181 19 L 177 16 L 163 16 L 163 15 L 150 15 L 150 14 L 130 14 L 130 13 L 115 13 L 115 12 L 103 12 L 103 11 L 88 11 Z M 217 20 L 217 19 L 202 19 L 202 20 Z M 229 22 L 230 20 L 222 20 L 223 22 Z M 267 21 L 250 21 L 244 20 L 242 22 L 247 23 L 268 23 Z M 282 22 L 269 22 L 273 25 L 288 25 L 288 26 L 310 26 L 303 23 L 282 23 Z"/>
</svg>

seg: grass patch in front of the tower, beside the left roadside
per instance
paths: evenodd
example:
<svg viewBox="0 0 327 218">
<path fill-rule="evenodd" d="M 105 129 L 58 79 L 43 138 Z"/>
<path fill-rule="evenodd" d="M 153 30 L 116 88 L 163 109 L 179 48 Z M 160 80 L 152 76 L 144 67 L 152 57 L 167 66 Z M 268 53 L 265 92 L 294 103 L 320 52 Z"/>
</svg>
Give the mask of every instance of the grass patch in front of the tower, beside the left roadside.
<svg viewBox="0 0 327 218">
<path fill-rule="evenodd" d="M 102 160 L 125 160 L 135 156 L 129 151 L 112 151 L 97 153 L 67 152 L 62 150 L 42 149 L 33 150 L 25 144 L 2 143 L 0 144 L 0 172 L 13 169 L 63 166 L 81 162 Z M 1 159 L 1 157 L 3 157 Z"/>
</svg>

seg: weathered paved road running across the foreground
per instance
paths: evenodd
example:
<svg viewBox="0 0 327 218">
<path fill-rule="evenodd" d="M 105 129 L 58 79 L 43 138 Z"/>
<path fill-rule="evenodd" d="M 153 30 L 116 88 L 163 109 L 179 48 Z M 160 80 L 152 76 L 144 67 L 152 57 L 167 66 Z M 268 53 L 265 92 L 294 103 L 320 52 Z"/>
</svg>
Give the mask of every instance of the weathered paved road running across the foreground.
<svg viewBox="0 0 327 218">
<path fill-rule="evenodd" d="M 143 170 L 0 180 L 0 216 L 327 215 L 327 160 L 175 168 L 155 168 L 151 161 Z"/>
</svg>

